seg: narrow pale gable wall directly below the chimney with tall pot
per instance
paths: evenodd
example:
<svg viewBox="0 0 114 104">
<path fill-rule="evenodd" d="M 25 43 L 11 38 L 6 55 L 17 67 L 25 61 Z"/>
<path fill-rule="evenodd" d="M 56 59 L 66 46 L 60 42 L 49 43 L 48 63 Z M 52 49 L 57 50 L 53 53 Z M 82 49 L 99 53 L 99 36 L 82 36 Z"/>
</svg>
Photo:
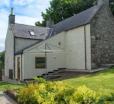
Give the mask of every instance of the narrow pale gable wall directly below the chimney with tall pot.
<svg viewBox="0 0 114 104">
<path fill-rule="evenodd" d="M 9 78 L 9 69 L 14 69 L 14 37 L 11 27 L 7 31 L 5 40 L 5 77 Z"/>
</svg>

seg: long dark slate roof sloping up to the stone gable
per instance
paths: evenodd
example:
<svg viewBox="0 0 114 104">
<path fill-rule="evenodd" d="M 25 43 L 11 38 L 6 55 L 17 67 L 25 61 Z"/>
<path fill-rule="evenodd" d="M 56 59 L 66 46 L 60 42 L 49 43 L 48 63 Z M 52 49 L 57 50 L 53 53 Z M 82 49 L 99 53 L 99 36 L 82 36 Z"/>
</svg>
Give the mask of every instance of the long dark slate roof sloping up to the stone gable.
<svg viewBox="0 0 114 104">
<path fill-rule="evenodd" d="M 75 14 L 74 16 L 55 24 L 54 26 L 52 26 L 52 34 L 48 35 L 48 38 L 60 32 L 88 24 L 100 8 L 101 5 L 95 5 L 79 14 Z"/>
</svg>

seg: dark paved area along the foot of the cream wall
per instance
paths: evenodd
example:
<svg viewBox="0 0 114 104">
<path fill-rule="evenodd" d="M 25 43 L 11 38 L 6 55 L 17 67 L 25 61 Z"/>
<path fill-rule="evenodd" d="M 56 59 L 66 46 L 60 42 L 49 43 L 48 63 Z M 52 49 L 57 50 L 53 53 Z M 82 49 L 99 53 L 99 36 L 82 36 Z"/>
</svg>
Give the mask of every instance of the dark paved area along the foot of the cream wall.
<svg viewBox="0 0 114 104">
<path fill-rule="evenodd" d="M 76 78 L 79 76 L 83 76 L 83 75 L 91 75 L 94 74 L 98 71 L 103 71 L 106 70 L 108 68 L 99 68 L 99 69 L 94 69 L 91 70 L 89 72 L 87 71 L 80 71 L 80 70 L 71 70 L 71 69 L 64 69 L 64 70 L 58 70 L 58 71 L 53 71 L 51 73 L 48 73 L 48 75 L 45 75 L 44 78 L 46 78 L 47 80 L 64 80 L 64 79 L 70 79 L 70 78 Z"/>
</svg>

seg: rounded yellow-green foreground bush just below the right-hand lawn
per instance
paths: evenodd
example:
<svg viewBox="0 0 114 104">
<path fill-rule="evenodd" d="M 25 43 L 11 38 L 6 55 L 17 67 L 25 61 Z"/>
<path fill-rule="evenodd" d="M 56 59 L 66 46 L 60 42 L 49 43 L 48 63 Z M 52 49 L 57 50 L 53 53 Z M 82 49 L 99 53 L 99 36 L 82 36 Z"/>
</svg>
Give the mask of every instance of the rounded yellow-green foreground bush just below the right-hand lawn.
<svg viewBox="0 0 114 104">
<path fill-rule="evenodd" d="M 66 89 L 56 96 L 57 104 L 96 104 L 100 97 L 86 86 Z"/>
</svg>

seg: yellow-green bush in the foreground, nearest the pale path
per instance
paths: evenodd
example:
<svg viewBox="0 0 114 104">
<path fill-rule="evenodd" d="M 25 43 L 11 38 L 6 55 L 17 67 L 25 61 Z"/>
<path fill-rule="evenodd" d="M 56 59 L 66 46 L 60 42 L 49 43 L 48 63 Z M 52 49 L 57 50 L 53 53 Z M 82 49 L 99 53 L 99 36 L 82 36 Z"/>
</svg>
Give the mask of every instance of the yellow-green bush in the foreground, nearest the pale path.
<svg viewBox="0 0 114 104">
<path fill-rule="evenodd" d="M 61 86 L 61 88 L 60 88 Z M 61 82 L 30 84 L 18 92 L 19 104 L 54 104 L 54 96 L 64 88 Z"/>
</svg>

